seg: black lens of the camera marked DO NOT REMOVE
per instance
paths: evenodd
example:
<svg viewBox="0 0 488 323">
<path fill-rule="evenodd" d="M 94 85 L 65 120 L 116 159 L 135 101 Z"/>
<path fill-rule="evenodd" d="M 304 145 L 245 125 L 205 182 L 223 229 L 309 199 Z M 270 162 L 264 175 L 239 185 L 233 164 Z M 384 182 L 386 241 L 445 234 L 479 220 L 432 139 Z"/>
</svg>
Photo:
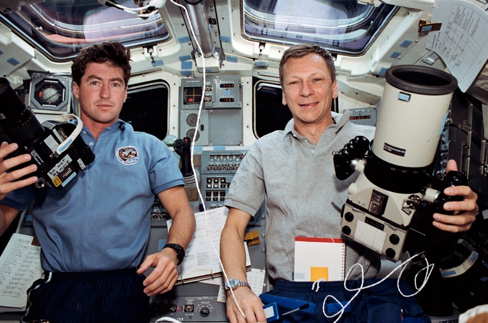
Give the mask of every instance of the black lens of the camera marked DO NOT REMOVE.
<svg viewBox="0 0 488 323">
<path fill-rule="evenodd" d="M 0 78 L 0 127 L 10 138 L 20 146 L 28 146 L 37 140 L 44 128 L 32 111 L 26 107 L 15 91 L 10 86 L 9 81 Z"/>
</svg>

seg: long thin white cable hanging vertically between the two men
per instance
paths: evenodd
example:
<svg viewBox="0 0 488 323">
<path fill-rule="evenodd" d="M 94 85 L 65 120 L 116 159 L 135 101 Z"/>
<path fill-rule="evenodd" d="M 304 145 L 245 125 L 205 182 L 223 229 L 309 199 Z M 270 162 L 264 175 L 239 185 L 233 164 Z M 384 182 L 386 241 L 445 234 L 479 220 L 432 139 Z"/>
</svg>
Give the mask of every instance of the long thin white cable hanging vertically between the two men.
<svg viewBox="0 0 488 323">
<path fill-rule="evenodd" d="M 179 3 L 176 3 L 174 0 L 170 0 L 172 3 L 174 3 L 175 5 L 181 7 L 183 9 L 183 11 L 185 12 L 185 15 L 187 17 L 187 20 L 188 20 L 188 24 L 190 26 L 190 30 L 191 30 L 191 33 L 193 34 L 193 38 L 195 40 L 195 43 L 196 43 L 196 46 L 198 48 L 198 50 L 200 51 L 200 54 L 202 55 L 202 69 L 203 69 L 203 89 L 202 89 L 202 98 L 200 100 L 200 106 L 198 107 L 198 114 L 197 114 L 197 117 L 196 117 L 196 126 L 195 126 L 195 133 L 193 133 L 193 139 L 191 140 L 191 170 L 193 171 L 193 176 L 195 177 L 195 183 L 196 183 L 196 190 L 198 192 L 198 197 L 200 198 L 200 200 L 202 201 L 202 206 L 203 206 L 203 212 L 205 213 L 205 230 L 207 232 L 207 238 L 209 238 L 209 241 L 213 247 L 213 250 L 215 251 L 215 253 L 217 254 L 217 259 L 219 261 L 219 264 L 220 266 L 222 267 L 222 274 L 224 276 L 224 279 L 225 281 L 228 281 L 229 278 L 227 277 L 227 273 L 225 272 L 224 270 L 224 265 L 222 264 L 222 260 L 220 259 L 220 254 L 219 252 L 217 251 L 217 248 L 213 245 L 213 242 L 212 242 L 212 239 L 210 239 L 209 237 L 209 234 L 208 234 L 208 230 L 207 230 L 207 227 L 208 227 L 208 221 L 207 221 L 207 209 L 205 207 L 205 202 L 203 200 L 203 196 L 202 196 L 202 192 L 200 191 L 200 187 L 198 185 L 198 178 L 197 178 L 197 175 L 196 175 L 196 171 L 195 171 L 195 166 L 193 164 L 193 152 L 194 152 L 194 148 L 195 148 L 195 139 L 196 139 L 196 133 L 198 131 L 198 124 L 200 123 L 200 114 L 202 112 L 202 105 L 203 105 L 203 102 L 204 102 L 204 97 L 205 97 L 205 85 L 206 85 L 206 73 L 205 73 L 205 57 L 203 57 L 203 51 L 202 51 L 202 48 L 200 47 L 200 43 L 198 42 L 198 39 L 195 37 L 195 31 L 193 30 L 193 26 L 191 24 L 191 19 L 190 19 L 190 15 L 188 14 L 188 11 L 187 11 L 187 8 L 185 8 L 184 6 L 182 6 L 181 4 Z M 240 308 L 239 304 L 237 303 L 237 299 L 235 298 L 235 295 L 234 295 L 234 291 L 232 290 L 232 288 L 230 289 L 231 291 L 231 294 L 232 294 L 232 297 L 234 299 L 234 302 L 235 302 L 235 305 L 237 306 L 237 309 L 239 310 L 239 312 L 241 313 L 241 315 L 244 317 L 244 319 L 246 318 L 246 316 L 244 315 L 244 311 L 242 311 L 242 309 Z"/>
</svg>

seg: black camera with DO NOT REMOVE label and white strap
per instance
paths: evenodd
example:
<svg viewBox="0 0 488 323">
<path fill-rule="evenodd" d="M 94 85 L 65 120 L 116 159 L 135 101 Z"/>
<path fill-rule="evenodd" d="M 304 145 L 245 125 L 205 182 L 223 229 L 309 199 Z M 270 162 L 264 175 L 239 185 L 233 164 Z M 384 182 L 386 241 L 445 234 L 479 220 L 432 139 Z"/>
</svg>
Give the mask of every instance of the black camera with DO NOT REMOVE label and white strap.
<svg viewBox="0 0 488 323">
<path fill-rule="evenodd" d="M 3 77 L 0 78 L 0 102 L 0 127 L 9 139 L 7 141 L 19 145 L 19 149 L 8 157 L 24 153 L 32 156 L 17 169 L 37 165 L 37 171 L 29 174 L 39 178 L 34 184 L 36 188 L 43 188 L 48 183 L 61 190 L 95 159 L 79 135 L 83 125 L 77 116 L 63 114 L 41 125 Z M 72 120 L 78 120 L 78 124 Z"/>
</svg>

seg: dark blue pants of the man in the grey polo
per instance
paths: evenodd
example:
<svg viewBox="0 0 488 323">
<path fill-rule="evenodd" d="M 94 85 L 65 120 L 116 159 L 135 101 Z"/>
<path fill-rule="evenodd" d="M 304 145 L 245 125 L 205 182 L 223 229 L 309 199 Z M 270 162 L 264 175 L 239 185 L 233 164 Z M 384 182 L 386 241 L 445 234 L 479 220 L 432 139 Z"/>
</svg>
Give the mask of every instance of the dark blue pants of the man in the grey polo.
<svg viewBox="0 0 488 323">
<path fill-rule="evenodd" d="M 364 286 L 378 280 L 366 279 Z M 348 288 L 357 288 L 360 281 L 348 281 Z M 277 303 L 280 313 L 286 313 L 304 304 L 309 307 L 283 316 L 283 322 L 323 323 L 334 322 L 338 316 L 327 318 L 322 313 L 324 299 L 333 295 L 344 306 L 356 292 L 344 289 L 344 282 L 321 282 L 318 292 L 312 290 L 311 282 L 276 281 L 275 288 L 259 297 L 264 304 Z M 317 285 L 315 286 L 317 287 Z M 400 288 L 405 295 L 413 292 L 401 281 Z M 325 304 L 325 313 L 332 316 L 339 312 L 340 305 L 330 297 Z M 427 316 L 421 315 L 422 309 L 414 297 L 403 297 L 397 289 L 397 280 L 388 279 L 381 284 L 362 290 L 346 307 L 338 322 L 344 323 L 424 323 L 430 322 Z"/>
</svg>

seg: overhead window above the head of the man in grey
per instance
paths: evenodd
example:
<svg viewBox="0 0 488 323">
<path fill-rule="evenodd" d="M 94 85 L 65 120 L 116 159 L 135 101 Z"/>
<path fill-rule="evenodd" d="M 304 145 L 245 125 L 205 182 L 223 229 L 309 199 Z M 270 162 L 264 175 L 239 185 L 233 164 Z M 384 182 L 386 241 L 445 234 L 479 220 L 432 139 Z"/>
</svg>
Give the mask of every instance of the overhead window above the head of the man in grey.
<svg viewBox="0 0 488 323">
<path fill-rule="evenodd" d="M 246 38 L 284 44 L 312 42 L 351 55 L 366 50 L 396 9 L 357 0 L 244 0 L 243 8 Z"/>
</svg>

